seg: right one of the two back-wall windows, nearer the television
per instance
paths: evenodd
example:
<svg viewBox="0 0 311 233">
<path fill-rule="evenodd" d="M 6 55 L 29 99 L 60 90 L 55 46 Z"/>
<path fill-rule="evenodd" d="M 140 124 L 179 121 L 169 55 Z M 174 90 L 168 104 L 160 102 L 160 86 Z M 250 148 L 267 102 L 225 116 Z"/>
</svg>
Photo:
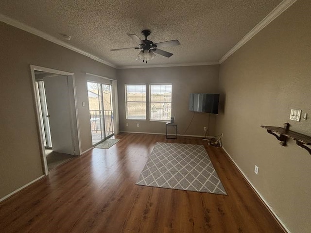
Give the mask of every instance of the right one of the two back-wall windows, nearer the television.
<svg viewBox="0 0 311 233">
<path fill-rule="evenodd" d="M 172 84 L 150 84 L 150 120 L 170 120 Z"/>
</svg>

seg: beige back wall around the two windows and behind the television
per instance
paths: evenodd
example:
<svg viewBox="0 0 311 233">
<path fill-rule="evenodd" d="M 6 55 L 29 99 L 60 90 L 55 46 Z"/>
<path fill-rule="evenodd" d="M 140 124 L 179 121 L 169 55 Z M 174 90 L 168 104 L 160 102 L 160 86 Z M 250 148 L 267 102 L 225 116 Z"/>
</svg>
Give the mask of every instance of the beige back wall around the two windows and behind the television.
<svg viewBox="0 0 311 233">
<path fill-rule="evenodd" d="M 117 70 L 120 131 L 165 133 L 165 122 L 149 121 L 149 96 L 147 95 L 147 120 L 125 120 L 124 84 L 126 83 L 172 83 L 172 115 L 178 131 L 184 133 L 193 112 L 188 110 L 190 93 L 217 93 L 219 66 L 159 67 Z M 147 90 L 149 86 L 147 85 Z M 208 117 L 209 126 L 208 126 Z M 214 135 L 216 115 L 195 113 L 192 124 L 186 134 L 204 135 L 203 127 L 209 128 L 209 135 Z M 128 126 L 126 126 L 128 123 Z M 139 128 L 137 123 L 140 124 Z"/>
</svg>

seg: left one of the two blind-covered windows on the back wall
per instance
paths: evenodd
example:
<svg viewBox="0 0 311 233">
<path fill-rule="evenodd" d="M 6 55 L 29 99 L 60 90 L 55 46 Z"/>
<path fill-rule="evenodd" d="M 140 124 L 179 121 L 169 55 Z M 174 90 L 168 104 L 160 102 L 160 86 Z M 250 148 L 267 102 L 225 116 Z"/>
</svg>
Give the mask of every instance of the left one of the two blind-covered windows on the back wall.
<svg viewBox="0 0 311 233">
<path fill-rule="evenodd" d="M 125 112 L 127 120 L 146 119 L 145 84 L 125 84 Z"/>
</svg>

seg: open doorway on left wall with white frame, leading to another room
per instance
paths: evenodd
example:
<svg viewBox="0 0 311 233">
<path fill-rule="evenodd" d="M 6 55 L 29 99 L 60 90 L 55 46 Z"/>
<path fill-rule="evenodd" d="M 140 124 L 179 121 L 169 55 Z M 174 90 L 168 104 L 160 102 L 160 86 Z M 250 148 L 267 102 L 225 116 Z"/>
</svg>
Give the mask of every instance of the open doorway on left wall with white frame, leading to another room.
<svg viewBox="0 0 311 233">
<path fill-rule="evenodd" d="M 72 73 L 31 66 L 45 174 L 81 154 Z"/>
</svg>

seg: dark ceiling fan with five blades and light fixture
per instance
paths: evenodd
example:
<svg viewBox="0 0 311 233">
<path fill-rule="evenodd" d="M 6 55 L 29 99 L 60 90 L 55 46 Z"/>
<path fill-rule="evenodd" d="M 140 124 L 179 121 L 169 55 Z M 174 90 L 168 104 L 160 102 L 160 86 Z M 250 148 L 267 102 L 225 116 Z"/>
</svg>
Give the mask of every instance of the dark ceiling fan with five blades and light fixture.
<svg viewBox="0 0 311 233">
<path fill-rule="evenodd" d="M 170 40 L 170 41 L 154 43 L 151 40 L 147 39 L 147 36 L 150 35 L 150 31 L 149 30 L 143 30 L 143 31 L 141 31 L 141 34 L 143 34 L 145 36 L 144 40 L 141 40 L 135 34 L 127 33 L 127 35 L 129 37 L 131 37 L 132 40 L 134 40 L 136 43 L 138 43 L 138 47 L 114 49 L 114 50 L 111 50 L 111 51 L 128 50 L 128 49 L 141 50 L 138 53 L 138 56 L 137 56 L 136 60 L 140 59 L 143 62 L 147 63 L 147 61 L 152 60 L 152 59 L 155 58 L 155 53 L 160 54 L 160 55 L 165 56 L 165 57 L 171 57 L 173 55 L 173 53 L 171 53 L 171 52 L 160 50 L 158 48 L 171 47 L 171 46 L 180 45 L 178 40 Z"/>
</svg>

